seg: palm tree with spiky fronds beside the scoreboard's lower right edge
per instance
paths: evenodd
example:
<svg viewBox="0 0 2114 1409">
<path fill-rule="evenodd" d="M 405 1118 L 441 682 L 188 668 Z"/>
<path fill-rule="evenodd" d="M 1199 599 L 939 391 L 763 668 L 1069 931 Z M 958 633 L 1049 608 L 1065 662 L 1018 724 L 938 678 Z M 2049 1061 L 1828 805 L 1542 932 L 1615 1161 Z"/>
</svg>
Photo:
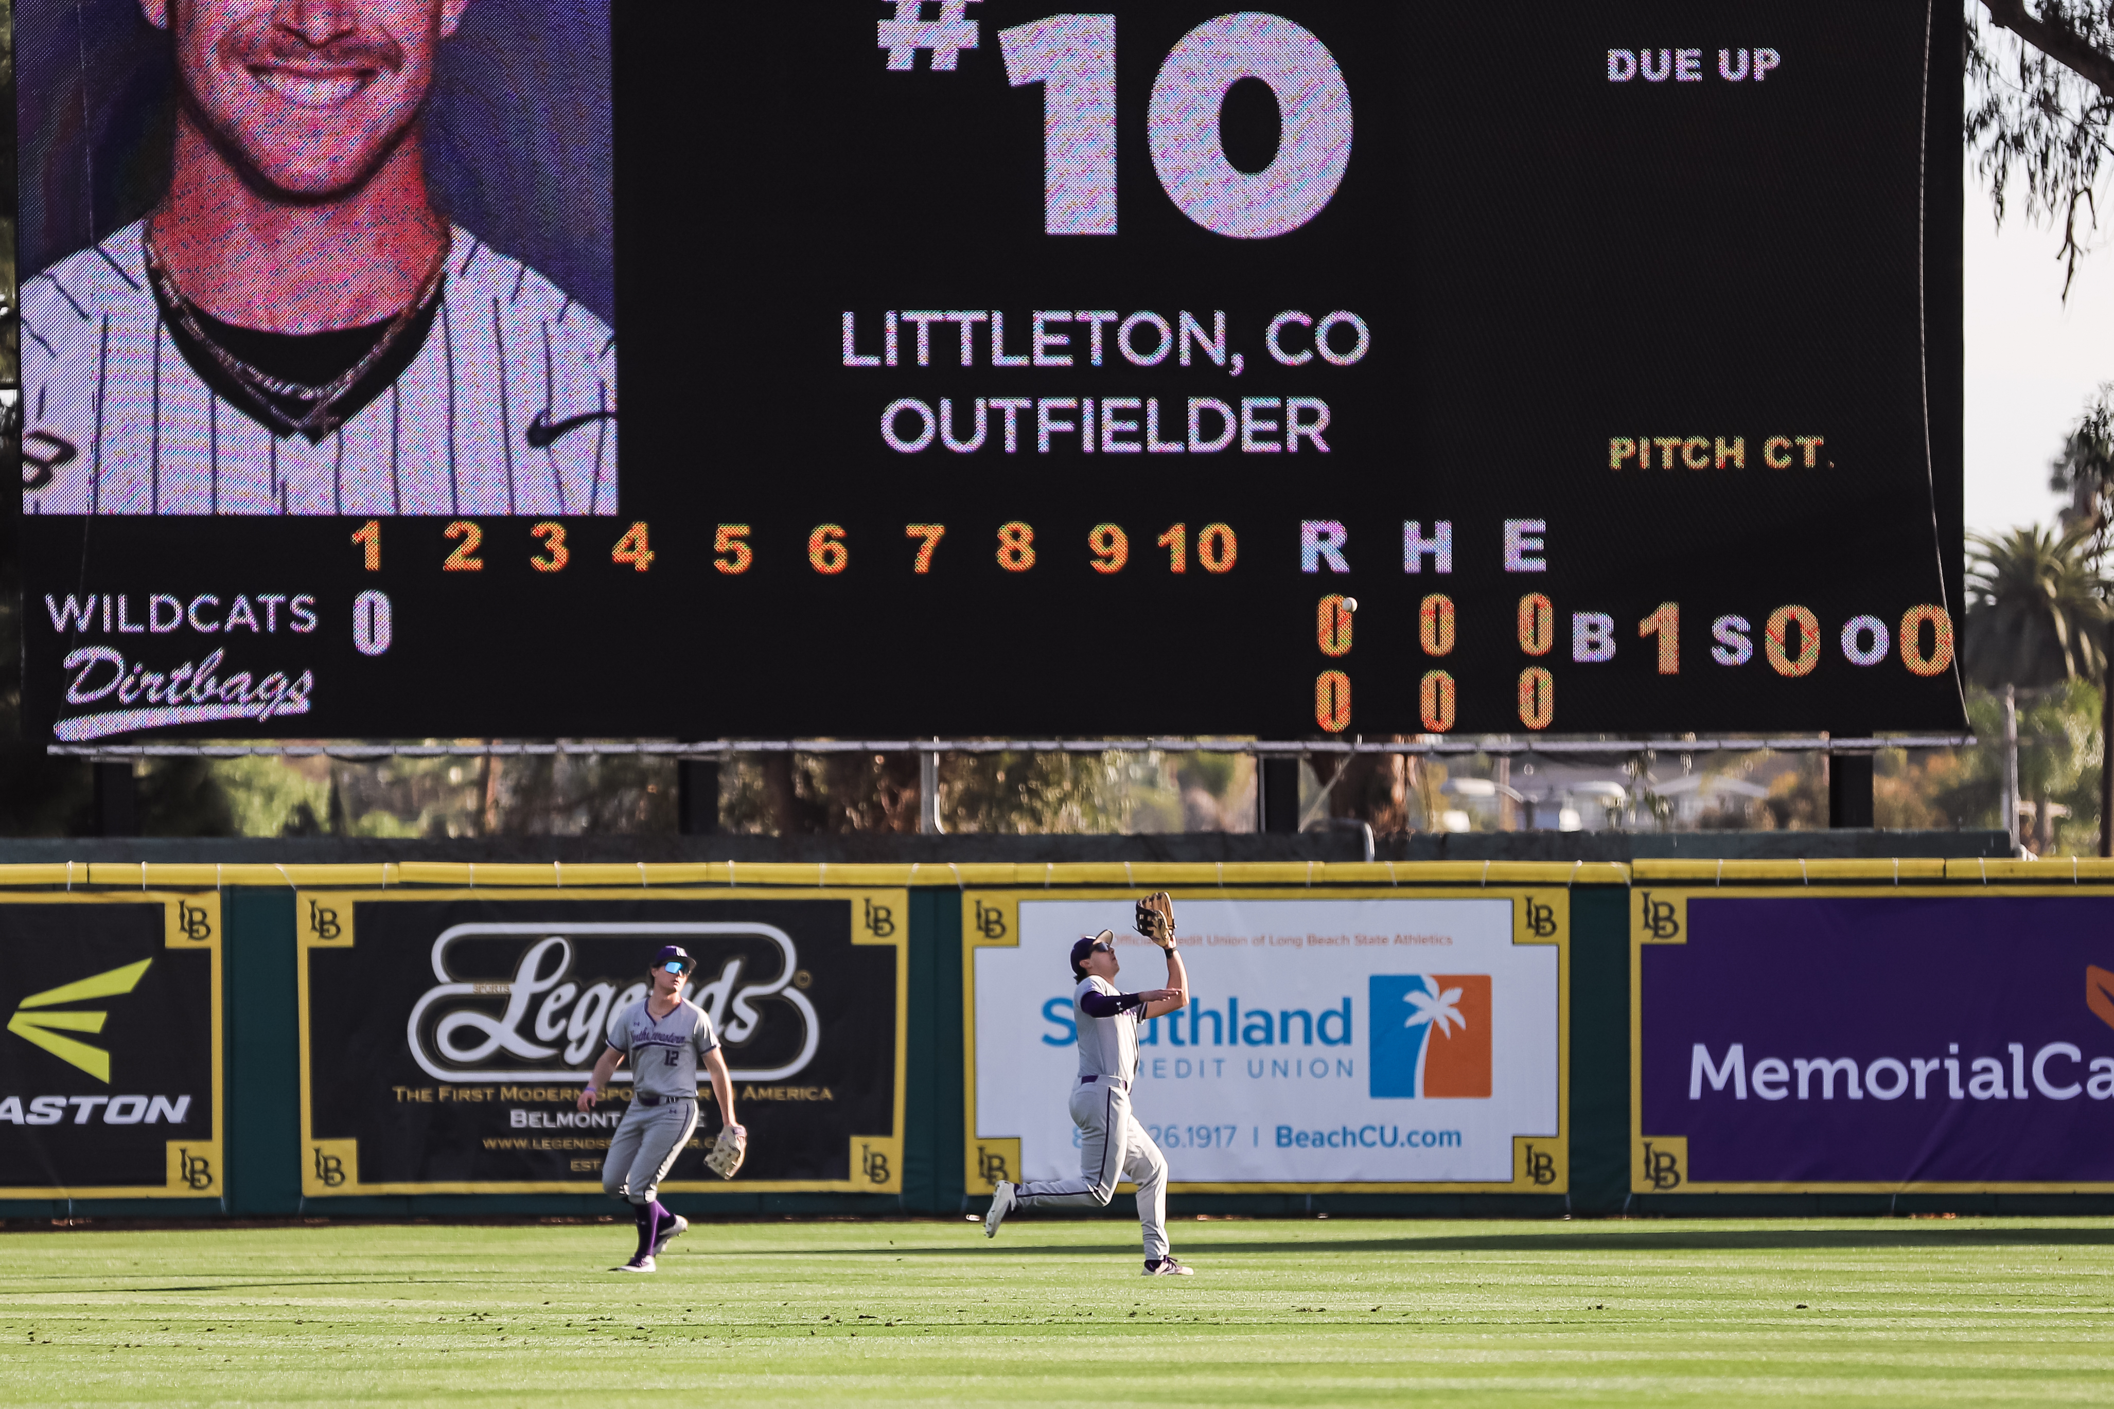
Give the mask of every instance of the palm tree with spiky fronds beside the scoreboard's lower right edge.
<svg viewBox="0 0 2114 1409">
<path fill-rule="evenodd" d="M 1968 621 L 1960 659 L 1991 689 L 2106 674 L 2108 579 L 2093 526 L 1968 534 Z"/>
</svg>

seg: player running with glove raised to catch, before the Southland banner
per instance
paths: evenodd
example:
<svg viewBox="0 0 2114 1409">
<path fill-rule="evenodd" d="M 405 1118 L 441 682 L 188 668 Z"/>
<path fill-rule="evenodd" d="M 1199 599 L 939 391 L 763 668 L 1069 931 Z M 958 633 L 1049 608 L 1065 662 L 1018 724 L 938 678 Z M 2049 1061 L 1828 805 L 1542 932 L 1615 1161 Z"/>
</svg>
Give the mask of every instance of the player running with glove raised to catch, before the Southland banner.
<svg viewBox="0 0 2114 1409">
<path fill-rule="evenodd" d="M 1078 1179 L 1000 1181 L 983 1236 L 1015 1208 L 1108 1208 L 1116 1177 L 1137 1185 L 1137 1223 L 1146 1236 L 1146 1276 L 1192 1276 L 1167 1251 L 1167 1156 L 1131 1115 L 1137 1077 L 1137 1025 L 1188 1003 L 1188 970 L 1175 953 L 1175 906 L 1167 891 L 1137 902 L 1137 932 L 1167 951 L 1167 987 L 1146 993 L 1116 989 L 1116 936 L 1110 929 L 1072 946 L 1072 1014 L 1078 1025 L 1078 1082 L 1072 1124 L 1078 1126 Z"/>
</svg>

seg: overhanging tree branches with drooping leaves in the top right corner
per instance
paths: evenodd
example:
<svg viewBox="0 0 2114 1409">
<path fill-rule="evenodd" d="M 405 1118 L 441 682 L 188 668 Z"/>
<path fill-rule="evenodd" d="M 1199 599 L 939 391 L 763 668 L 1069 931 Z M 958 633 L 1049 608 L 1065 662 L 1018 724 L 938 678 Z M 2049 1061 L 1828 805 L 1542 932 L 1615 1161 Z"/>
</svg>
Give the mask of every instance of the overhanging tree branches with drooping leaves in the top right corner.
<svg viewBox="0 0 2114 1409">
<path fill-rule="evenodd" d="M 2114 123 L 2114 15 L 2076 0 L 1981 0 L 1966 15 L 1966 142 L 1998 222 L 2017 190 L 2027 218 L 2061 224 L 2063 296 L 2097 226 Z"/>
</svg>

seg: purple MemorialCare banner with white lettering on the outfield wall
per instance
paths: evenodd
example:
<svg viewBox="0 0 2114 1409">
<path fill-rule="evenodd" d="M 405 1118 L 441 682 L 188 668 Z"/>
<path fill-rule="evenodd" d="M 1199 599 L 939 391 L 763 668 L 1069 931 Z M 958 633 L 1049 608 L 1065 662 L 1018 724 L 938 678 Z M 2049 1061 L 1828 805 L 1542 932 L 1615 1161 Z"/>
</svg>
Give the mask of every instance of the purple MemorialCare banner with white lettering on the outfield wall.
<svg viewBox="0 0 2114 1409">
<path fill-rule="evenodd" d="M 2114 889 L 1630 906 L 1634 1191 L 2114 1191 Z"/>
</svg>

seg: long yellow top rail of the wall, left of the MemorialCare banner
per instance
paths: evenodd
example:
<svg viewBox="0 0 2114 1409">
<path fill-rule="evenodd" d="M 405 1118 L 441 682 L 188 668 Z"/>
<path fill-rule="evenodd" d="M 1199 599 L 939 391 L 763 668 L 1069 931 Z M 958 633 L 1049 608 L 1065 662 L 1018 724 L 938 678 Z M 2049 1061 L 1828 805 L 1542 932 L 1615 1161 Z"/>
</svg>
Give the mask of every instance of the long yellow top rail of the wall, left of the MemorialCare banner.
<svg viewBox="0 0 2114 1409">
<path fill-rule="evenodd" d="M 0 887 L 211 889 L 283 887 L 1220 887 L 1220 885 L 1628 885 L 1615 862 L 385 862 L 385 864 L 188 864 L 49 862 L 0 866 Z"/>
</svg>

